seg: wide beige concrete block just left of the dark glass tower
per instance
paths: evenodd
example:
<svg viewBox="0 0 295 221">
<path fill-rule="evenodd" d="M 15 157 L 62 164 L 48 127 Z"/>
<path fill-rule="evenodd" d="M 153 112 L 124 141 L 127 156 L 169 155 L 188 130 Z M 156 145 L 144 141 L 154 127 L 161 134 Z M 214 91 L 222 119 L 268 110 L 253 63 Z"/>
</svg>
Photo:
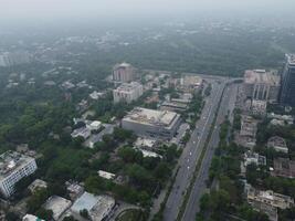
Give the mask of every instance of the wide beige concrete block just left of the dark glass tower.
<svg viewBox="0 0 295 221">
<path fill-rule="evenodd" d="M 247 70 L 244 74 L 244 93 L 247 98 L 274 103 L 278 98 L 281 78 L 276 71 Z"/>
</svg>

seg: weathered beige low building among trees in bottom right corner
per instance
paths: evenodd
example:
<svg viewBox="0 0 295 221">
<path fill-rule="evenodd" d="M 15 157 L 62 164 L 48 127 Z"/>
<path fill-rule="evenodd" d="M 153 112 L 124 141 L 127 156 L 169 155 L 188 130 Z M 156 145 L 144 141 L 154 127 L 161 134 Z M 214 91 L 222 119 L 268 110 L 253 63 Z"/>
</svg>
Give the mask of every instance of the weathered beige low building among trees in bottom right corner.
<svg viewBox="0 0 295 221">
<path fill-rule="evenodd" d="M 247 202 L 255 209 L 265 212 L 270 220 L 277 220 L 277 209 L 287 209 L 294 207 L 294 200 L 284 194 L 273 192 L 272 190 L 256 190 L 250 185 L 245 185 Z"/>
</svg>

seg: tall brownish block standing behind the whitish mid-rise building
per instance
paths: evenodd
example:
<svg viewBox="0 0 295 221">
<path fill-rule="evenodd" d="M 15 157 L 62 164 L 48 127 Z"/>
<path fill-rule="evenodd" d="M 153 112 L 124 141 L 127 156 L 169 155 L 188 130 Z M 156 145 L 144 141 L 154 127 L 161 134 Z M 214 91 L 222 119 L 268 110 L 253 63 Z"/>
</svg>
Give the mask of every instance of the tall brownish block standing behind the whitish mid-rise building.
<svg viewBox="0 0 295 221">
<path fill-rule="evenodd" d="M 113 67 L 114 82 L 131 82 L 135 78 L 135 70 L 128 63 L 116 64 Z"/>
</svg>

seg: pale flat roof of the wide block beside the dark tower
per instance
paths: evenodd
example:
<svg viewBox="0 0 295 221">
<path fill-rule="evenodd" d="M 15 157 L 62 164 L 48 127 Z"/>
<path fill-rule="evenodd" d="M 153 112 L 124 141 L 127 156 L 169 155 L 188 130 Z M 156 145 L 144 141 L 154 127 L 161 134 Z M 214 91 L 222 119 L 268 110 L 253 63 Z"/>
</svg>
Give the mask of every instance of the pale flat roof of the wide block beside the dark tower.
<svg viewBox="0 0 295 221">
<path fill-rule="evenodd" d="M 265 70 L 247 70 L 244 74 L 244 83 L 246 84 L 270 84 L 273 86 L 280 85 L 281 77 L 277 71 Z"/>
</svg>

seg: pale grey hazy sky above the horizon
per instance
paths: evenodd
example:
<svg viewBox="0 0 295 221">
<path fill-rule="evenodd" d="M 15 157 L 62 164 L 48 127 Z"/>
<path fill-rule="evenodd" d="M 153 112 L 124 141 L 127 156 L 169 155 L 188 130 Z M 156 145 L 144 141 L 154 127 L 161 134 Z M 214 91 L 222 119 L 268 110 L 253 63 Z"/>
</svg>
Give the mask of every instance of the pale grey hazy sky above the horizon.
<svg viewBox="0 0 295 221">
<path fill-rule="evenodd" d="M 292 12 L 295 0 L 0 0 L 2 22 L 154 18 L 192 13 Z"/>
</svg>

